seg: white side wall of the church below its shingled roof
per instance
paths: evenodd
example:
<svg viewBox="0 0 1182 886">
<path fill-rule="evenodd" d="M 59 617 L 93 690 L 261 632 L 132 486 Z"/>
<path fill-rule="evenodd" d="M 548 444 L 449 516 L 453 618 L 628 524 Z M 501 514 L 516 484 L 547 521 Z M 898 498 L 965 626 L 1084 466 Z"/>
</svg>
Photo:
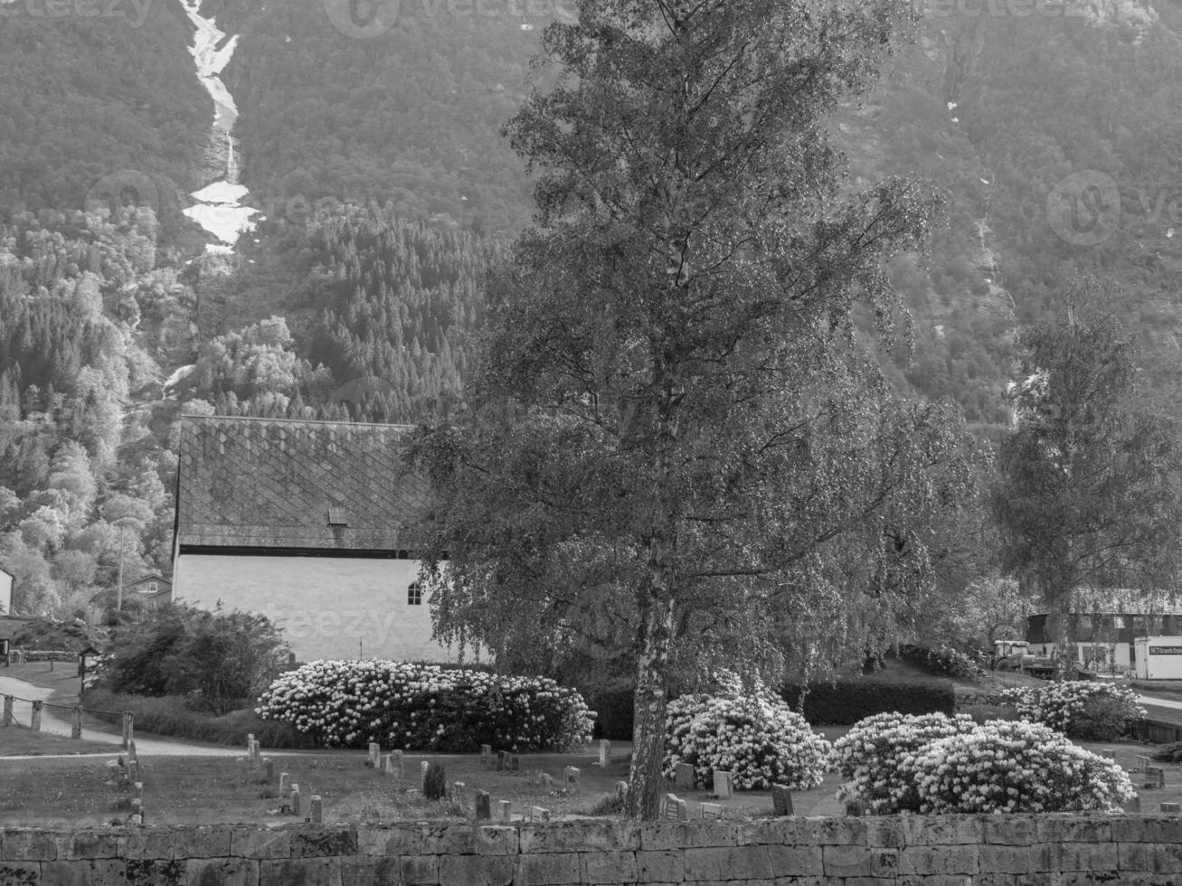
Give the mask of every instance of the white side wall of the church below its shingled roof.
<svg viewBox="0 0 1182 886">
<path fill-rule="evenodd" d="M 267 615 L 284 630 L 298 662 L 454 662 L 459 649 L 431 640 L 426 594 L 422 605 L 407 602 L 407 587 L 417 576 L 417 560 L 181 554 L 173 565 L 173 597 L 209 610 L 221 600 L 227 611 Z"/>
</svg>

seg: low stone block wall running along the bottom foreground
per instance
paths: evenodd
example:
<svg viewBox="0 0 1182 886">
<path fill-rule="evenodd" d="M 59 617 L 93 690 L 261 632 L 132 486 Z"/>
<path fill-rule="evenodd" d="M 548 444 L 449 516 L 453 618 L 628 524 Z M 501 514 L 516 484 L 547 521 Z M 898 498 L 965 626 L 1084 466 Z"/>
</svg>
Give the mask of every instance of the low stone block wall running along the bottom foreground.
<svg viewBox="0 0 1182 886">
<path fill-rule="evenodd" d="M 949 815 L 743 823 L 176 826 L 0 833 L 0 884 L 1182 885 L 1182 819 Z"/>
</svg>

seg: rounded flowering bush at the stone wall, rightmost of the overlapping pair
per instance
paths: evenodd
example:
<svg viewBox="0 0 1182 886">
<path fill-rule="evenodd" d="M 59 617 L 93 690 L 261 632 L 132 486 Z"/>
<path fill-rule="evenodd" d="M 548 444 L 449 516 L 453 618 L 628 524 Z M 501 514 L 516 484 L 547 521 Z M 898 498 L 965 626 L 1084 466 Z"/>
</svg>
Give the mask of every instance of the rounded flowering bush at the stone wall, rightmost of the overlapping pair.
<svg viewBox="0 0 1182 886">
<path fill-rule="evenodd" d="M 922 813 L 1117 812 L 1132 799 L 1113 761 L 1035 723 L 987 723 L 936 738 L 904 757 L 900 773 Z"/>
</svg>

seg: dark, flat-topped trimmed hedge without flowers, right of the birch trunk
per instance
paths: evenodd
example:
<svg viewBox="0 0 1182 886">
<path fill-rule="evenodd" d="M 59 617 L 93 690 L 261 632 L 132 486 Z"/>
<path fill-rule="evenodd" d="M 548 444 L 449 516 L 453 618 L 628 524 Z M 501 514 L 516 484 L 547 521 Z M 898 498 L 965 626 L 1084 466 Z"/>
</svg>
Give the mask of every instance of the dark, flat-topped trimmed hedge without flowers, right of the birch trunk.
<svg viewBox="0 0 1182 886">
<path fill-rule="evenodd" d="M 785 683 L 780 695 L 793 709 L 800 701 L 800 684 Z M 956 711 L 956 695 L 950 680 L 838 680 L 810 684 L 804 716 L 810 723 L 851 725 L 876 714 L 946 714 Z"/>
</svg>

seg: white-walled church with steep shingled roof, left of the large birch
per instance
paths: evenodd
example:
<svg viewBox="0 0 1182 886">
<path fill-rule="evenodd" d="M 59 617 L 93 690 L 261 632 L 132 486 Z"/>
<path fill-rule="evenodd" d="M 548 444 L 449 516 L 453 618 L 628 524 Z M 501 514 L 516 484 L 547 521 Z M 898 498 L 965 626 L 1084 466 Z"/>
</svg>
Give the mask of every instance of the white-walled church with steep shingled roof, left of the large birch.
<svg viewBox="0 0 1182 886">
<path fill-rule="evenodd" d="M 424 481 L 405 425 L 186 416 L 173 599 L 258 612 L 299 662 L 450 662 L 431 639 L 408 528 Z"/>
</svg>

